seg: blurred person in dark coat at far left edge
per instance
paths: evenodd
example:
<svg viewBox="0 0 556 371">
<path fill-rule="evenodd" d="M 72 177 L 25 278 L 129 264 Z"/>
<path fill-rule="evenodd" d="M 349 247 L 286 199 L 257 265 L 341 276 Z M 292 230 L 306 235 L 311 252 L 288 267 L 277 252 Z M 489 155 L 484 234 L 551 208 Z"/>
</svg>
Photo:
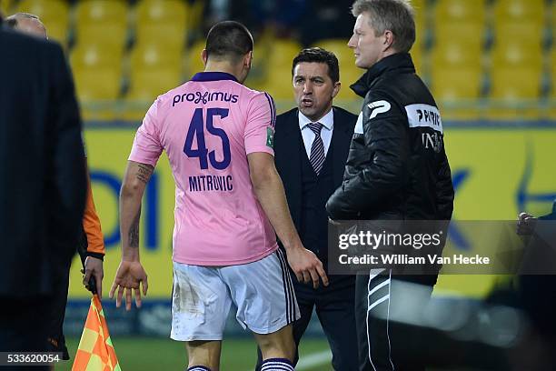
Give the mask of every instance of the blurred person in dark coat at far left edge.
<svg viewBox="0 0 556 371">
<path fill-rule="evenodd" d="M 45 351 L 53 285 L 86 192 L 81 120 L 62 48 L 0 15 L 0 351 Z M 38 369 L 38 368 L 37 368 Z"/>
</svg>

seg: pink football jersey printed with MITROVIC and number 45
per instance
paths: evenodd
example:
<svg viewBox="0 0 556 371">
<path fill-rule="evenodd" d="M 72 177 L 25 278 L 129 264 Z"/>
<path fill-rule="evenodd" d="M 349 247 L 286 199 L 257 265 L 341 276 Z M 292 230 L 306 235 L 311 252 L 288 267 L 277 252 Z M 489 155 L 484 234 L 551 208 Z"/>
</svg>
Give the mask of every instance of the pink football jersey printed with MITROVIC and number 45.
<svg viewBox="0 0 556 371">
<path fill-rule="evenodd" d="M 257 201 L 247 155 L 273 153 L 273 98 L 233 75 L 202 72 L 158 96 L 129 159 L 156 165 L 164 150 L 175 181 L 174 261 L 250 263 L 277 248 Z"/>
</svg>

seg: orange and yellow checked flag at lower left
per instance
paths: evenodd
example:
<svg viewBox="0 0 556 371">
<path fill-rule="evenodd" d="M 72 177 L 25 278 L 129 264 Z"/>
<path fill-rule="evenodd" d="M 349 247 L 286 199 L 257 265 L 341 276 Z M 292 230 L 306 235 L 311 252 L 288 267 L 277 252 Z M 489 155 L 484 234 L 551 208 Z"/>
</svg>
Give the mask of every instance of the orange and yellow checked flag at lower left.
<svg viewBox="0 0 556 371">
<path fill-rule="evenodd" d="M 104 319 L 103 306 L 94 295 L 72 371 L 122 371 Z"/>
</svg>

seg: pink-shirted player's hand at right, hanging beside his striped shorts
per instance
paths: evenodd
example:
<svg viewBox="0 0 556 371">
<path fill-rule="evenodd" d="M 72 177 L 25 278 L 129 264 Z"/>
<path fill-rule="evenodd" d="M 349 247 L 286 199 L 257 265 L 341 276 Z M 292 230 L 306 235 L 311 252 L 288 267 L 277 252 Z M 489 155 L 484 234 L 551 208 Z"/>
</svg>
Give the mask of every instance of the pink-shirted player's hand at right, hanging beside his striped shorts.
<svg viewBox="0 0 556 371">
<path fill-rule="evenodd" d="M 328 277 L 323 269 L 323 263 L 312 251 L 306 248 L 290 249 L 287 252 L 288 263 L 299 282 L 309 284 L 313 281 L 313 287 L 319 286 L 319 276 L 323 285 L 328 286 Z"/>
</svg>

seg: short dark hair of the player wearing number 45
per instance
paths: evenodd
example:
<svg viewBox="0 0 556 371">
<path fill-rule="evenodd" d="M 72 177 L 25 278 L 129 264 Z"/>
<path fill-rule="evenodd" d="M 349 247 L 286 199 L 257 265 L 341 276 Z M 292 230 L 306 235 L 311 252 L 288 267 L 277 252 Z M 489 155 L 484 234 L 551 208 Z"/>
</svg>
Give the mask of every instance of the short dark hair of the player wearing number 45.
<svg viewBox="0 0 556 371">
<path fill-rule="evenodd" d="M 206 36 L 205 49 L 207 58 L 237 63 L 243 55 L 253 51 L 253 36 L 239 22 L 219 22 Z"/>
</svg>

